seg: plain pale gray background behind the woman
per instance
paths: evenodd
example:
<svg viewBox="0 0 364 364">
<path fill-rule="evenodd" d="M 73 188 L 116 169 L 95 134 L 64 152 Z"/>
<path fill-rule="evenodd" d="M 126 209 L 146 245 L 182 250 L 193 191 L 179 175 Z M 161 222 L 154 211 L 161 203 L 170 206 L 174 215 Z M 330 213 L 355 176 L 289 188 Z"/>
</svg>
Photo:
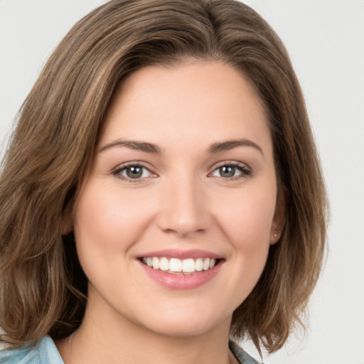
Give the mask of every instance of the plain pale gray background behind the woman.
<svg viewBox="0 0 364 364">
<path fill-rule="evenodd" d="M 102 0 L 0 0 L 0 142 L 45 60 Z M 105 1 L 104 1 L 105 2 Z M 364 0 L 250 0 L 281 36 L 306 95 L 331 200 L 326 266 L 306 338 L 269 364 L 364 364 Z M 255 351 L 245 344 L 245 348 Z"/>
</svg>

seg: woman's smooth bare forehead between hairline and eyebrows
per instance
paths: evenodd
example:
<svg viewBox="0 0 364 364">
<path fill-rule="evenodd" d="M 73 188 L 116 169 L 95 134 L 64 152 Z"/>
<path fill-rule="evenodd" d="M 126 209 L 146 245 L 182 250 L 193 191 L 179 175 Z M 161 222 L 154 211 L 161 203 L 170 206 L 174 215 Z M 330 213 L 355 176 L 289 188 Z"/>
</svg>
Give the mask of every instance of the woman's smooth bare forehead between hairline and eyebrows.
<svg viewBox="0 0 364 364">
<path fill-rule="evenodd" d="M 267 125 L 262 101 L 242 73 L 223 62 L 191 61 L 129 75 L 114 93 L 100 144 L 249 137 L 270 148 Z"/>
</svg>

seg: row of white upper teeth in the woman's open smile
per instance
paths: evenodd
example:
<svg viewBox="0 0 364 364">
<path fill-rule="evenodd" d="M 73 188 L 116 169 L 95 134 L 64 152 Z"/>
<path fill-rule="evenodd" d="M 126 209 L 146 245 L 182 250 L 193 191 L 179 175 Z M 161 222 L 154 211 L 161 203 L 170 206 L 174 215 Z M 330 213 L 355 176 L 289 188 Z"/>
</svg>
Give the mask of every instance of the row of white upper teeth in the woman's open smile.
<svg viewBox="0 0 364 364">
<path fill-rule="evenodd" d="M 142 259 L 143 263 L 153 269 L 161 269 L 164 272 L 170 273 L 193 273 L 201 272 L 202 270 L 208 270 L 215 267 L 216 259 L 210 258 L 188 258 L 178 259 L 166 257 L 148 257 Z"/>
</svg>

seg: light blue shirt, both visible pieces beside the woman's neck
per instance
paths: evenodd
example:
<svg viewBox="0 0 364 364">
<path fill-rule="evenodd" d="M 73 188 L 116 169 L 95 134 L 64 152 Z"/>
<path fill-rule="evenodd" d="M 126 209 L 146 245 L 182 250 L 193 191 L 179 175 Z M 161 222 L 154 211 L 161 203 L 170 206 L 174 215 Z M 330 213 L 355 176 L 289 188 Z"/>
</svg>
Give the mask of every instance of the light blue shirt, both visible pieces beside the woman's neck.
<svg viewBox="0 0 364 364">
<path fill-rule="evenodd" d="M 237 344 L 230 341 L 230 350 L 235 358 L 242 364 L 257 364 L 257 362 L 247 355 Z M 20 349 L 0 350 L 1 364 L 64 364 L 54 341 L 45 336 L 36 346 L 26 346 Z"/>
</svg>

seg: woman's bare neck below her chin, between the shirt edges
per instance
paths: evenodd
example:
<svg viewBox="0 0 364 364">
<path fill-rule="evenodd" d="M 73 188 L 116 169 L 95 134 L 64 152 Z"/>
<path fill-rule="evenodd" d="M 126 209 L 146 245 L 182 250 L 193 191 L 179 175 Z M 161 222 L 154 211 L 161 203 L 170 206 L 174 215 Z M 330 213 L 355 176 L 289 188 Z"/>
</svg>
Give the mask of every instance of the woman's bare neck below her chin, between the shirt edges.
<svg viewBox="0 0 364 364">
<path fill-rule="evenodd" d="M 87 307 L 80 328 L 56 342 L 65 364 L 235 363 L 228 349 L 231 317 L 208 332 L 181 336 L 156 333 L 112 310 L 92 311 Z"/>
</svg>

